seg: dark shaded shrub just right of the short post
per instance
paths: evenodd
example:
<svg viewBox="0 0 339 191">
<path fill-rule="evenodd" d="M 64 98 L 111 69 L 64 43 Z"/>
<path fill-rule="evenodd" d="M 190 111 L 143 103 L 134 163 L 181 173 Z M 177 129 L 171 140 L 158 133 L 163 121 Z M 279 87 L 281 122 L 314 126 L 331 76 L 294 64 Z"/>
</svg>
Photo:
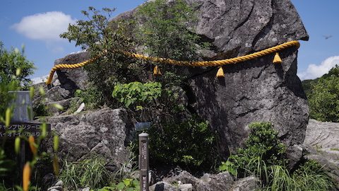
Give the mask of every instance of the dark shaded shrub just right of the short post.
<svg viewBox="0 0 339 191">
<path fill-rule="evenodd" d="M 216 135 L 208 122 L 194 116 L 183 122 L 172 121 L 148 130 L 150 161 L 186 166 L 213 168 L 218 161 L 215 153 Z"/>
</svg>

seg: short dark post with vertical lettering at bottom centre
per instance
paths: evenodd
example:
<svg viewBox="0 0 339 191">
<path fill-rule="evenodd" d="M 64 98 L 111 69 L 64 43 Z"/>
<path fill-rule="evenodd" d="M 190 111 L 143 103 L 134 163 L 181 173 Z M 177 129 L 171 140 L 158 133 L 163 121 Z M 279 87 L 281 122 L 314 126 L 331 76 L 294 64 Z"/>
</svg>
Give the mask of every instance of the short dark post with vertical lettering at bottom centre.
<svg viewBox="0 0 339 191">
<path fill-rule="evenodd" d="M 140 190 L 149 191 L 148 184 L 148 134 L 139 134 L 139 170 L 140 170 Z"/>
</svg>

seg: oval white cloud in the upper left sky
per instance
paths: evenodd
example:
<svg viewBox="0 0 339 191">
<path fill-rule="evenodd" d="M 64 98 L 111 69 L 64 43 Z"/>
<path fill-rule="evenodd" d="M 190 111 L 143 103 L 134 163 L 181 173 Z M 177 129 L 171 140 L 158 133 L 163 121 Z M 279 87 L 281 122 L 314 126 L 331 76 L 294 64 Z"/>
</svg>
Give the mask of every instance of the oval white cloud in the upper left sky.
<svg viewBox="0 0 339 191">
<path fill-rule="evenodd" d="M 69 23 L 75 22 L 75 19 L 65 13 L 52 11 L 25 16 L 11 28 L 30 39 L 50 42 L 61 40 L 59 35 L 67 30 Z"/>
</svg>

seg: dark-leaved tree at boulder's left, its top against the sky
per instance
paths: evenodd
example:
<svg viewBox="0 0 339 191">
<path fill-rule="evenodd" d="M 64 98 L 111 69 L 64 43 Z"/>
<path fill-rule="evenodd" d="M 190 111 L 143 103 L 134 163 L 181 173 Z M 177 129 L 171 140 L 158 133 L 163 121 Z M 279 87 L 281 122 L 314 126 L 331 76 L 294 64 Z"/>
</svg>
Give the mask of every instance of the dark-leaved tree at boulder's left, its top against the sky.
<svg viewBox="0 0 339 191">
<path fill-rule="evenodd" d="M 76 42 L 83 50 L 90 52 L 91 57 L 98 57 L 93 64 L 85 66 L 90 81 L 97 89 L 104 103 L 112 104 L 111 93 L 117 82 L 128 83 L 138 81 L 138 74 L 143 64 L 135 64 L 121 52 L 131 52 L 133 43 L 126 35 L 127 21 L 110 21 L 115 9 L 102 8 L 99 11 L 89 7 L 82 11 L 87 20 L 79 20 L 69 25 L 68 31 L 60 36 L 70 42 Z M 98 103 L 98 104 L 104 104 Z"/>
</svg>

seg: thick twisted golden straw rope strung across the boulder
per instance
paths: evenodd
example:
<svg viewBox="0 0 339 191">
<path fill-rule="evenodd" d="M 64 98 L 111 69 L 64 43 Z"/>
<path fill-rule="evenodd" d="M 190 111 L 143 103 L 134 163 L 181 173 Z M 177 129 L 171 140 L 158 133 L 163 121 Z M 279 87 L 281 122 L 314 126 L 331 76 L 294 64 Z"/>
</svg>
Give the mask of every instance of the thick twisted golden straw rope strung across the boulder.
<svg viewBox="0 0 339 191">
<path fill-rule="evenodd" d="M 231 59 L 221 59 L 221 60 L 213 60 L 213 61 L 200 61 L 200 62 L 190 62 L 190 61 L 178 61 L 178 60 L 174 60 L 174 59 L 165 59 L 165 58 L 159 58 L 159 57 L 147 57 L 145 55 L 142 54 L 136 54 L 136 53 L 132 53 L 132 52 L 121 52 L 122 54 L 125 54 L 127 57 L 132 57 L 132 58 L 136 58 L 136 59 L 143 59 L 143 60 L 148 60 L 151 62 L 158 62 L 160 64 L 172 64 L 172 65 L 177 65 L 177 66 L 223 66 L 226 64 L 236 64 L 239 62 L 245 62 L 251 59 L 256 59 L 258 57 L 263 57 L 266 56 L 268 54 L 272 54 L 274 52 L 279 52 L 280 50 L 285 50 L 288 47 L 297 47 L 299 48 L 300 44 L 299 41 L 294 40 L 294 41 L 290 41 L 290 42 L 285 42 L 281 45 L 277 45 L 275 47 L 270 47 L 266 50 L 261 50 L 258 52 L 254 52 L 252 54 L 247 54 L 241 57 L 234 57 Z M 107 52 L 105 52 L 107 53 Z M 49 72 L 49 77 L 46 81 L 46 84 L 49 85 L 50 83 L 52 83 L 52 79 L 53 79 L 53 75 L 54 72 L 57 71 L 58 69 L 77 69 L 80 67 L 85 66 L 86 64 L 90 64 L 95 62 L 95 60 L 99 59 L 99 57 L 102 54 L 100 54 L 97 57 L 85 60 L 84 62 L 79 62 L 76 64 L 57 64 L 56 66 L 54 66 L 51 71 Z"/>
</svg>

